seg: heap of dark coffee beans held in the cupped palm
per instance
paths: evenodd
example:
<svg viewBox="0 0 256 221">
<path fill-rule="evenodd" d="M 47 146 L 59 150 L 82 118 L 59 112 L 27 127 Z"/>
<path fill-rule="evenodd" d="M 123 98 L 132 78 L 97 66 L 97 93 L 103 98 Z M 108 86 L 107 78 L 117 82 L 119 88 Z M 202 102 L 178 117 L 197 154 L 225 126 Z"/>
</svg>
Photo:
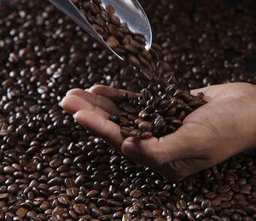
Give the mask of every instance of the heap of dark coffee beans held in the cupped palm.
<svg viewBox="0 0 256 221">
<path fill-rule="evenodd" d="M 177 131 L 183 119 L 206 102 L 203 94 L 192 96 L 188 91 L 177 89 L 176 84 L 161 94 L 157 84 L 151 83 L 143 89 L 143 95 L 128 97 L 119 102 L 121 113 L 110 115 L 109 119 L 121 126 L 125 137 L 163 137 Z"/>
</svg>

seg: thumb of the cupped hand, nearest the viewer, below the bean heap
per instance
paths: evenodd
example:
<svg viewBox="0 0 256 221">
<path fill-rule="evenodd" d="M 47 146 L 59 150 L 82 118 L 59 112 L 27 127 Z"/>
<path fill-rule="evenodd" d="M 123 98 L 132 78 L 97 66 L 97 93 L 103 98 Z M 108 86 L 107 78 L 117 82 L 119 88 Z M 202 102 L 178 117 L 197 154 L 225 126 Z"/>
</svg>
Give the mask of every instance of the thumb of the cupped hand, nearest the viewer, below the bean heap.
<svg viewBox="0 0 256 221">
<path fill-rule="evenodd" d="M 165 137 L 140 139 L 128 137 L 121 151 L 132 160 L 143 164 L 163 165 L 171 161 L 202 156 L 198 151 L 203 131 L 194 124 L 185 124 Z"/>
</svg>

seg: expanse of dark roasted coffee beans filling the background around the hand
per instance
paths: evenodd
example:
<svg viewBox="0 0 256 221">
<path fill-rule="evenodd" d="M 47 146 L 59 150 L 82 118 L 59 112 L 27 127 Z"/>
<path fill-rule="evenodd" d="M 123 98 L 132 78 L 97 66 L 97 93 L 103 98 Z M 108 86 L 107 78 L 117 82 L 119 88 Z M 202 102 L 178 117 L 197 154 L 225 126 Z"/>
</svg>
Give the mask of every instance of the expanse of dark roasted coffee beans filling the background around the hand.
<svg viewBox="0 0 256 221">
<path fill-rule="evenodd" d="M 254 1 L 141 3 L 178 88 L 256 84 Z M 255 220 L 255 150 L 177 183 L 125 159 L 58 102 L 148 81 L 47 1 L 14 5 L 0 3 L 0 220 Z"/>
</svg>

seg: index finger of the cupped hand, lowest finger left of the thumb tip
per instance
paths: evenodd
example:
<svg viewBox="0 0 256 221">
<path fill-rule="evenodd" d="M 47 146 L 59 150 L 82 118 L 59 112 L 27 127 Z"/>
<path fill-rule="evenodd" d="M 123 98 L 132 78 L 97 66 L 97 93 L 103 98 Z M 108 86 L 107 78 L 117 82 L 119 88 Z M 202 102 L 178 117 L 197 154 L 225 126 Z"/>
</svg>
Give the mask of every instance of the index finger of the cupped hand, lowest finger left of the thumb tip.
<svg viewBox="0 0 256 221">
<path fill-rule="evenodd" d="M 114 124 L 95 111 L 82 109 L 75 113 L 73 118 L 86 129 L 102 137 L 112 145 L 113 148 L 119 149 L 121 143 L 124 141 L 124 137 L 120 133 L 119 125 Z"/>
</svg>

